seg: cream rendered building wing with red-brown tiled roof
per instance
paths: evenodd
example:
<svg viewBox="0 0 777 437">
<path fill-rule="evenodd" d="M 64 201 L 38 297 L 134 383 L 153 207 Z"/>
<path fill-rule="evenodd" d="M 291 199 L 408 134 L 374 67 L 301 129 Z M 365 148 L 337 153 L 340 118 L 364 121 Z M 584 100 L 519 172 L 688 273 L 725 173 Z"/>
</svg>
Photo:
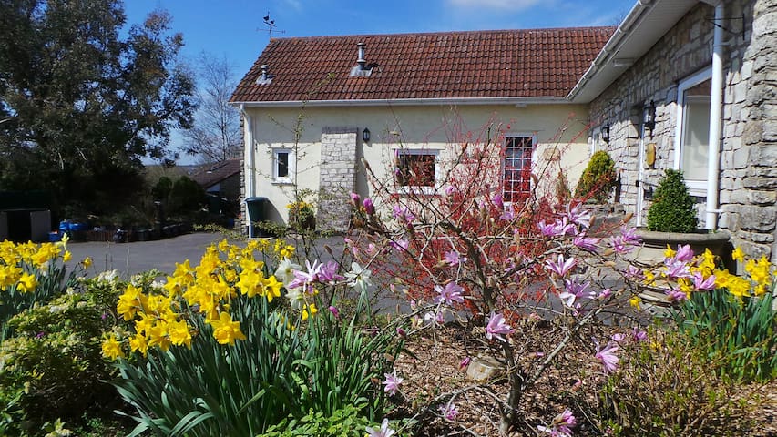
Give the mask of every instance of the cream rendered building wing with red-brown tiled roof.
<svg viewBox="0 0 777 437">
<path fill-rule="evenodd" d="M 424 166 L 421 185 L 437 189 L 450 145 L 484 140 L 465 137 L 489 126 L 504 132 L 512 168 L 555 158 L 574 183 L 589 154 L 576 135 L 588 108 L 567 94 L 614 30 L 272 39 L 231 97 L 244 129 L 244 196 L 267 198 L 261 219 L 282 222 L 301 192 L 326 193 L 319 223 L 326 215 L 346 229 L 349 193 L 371 195 L 361 158 L 381 178 L 395 161 Z M 528 187 L 527 172 L 505 173 L 510 189 Z"/>
</svg>

